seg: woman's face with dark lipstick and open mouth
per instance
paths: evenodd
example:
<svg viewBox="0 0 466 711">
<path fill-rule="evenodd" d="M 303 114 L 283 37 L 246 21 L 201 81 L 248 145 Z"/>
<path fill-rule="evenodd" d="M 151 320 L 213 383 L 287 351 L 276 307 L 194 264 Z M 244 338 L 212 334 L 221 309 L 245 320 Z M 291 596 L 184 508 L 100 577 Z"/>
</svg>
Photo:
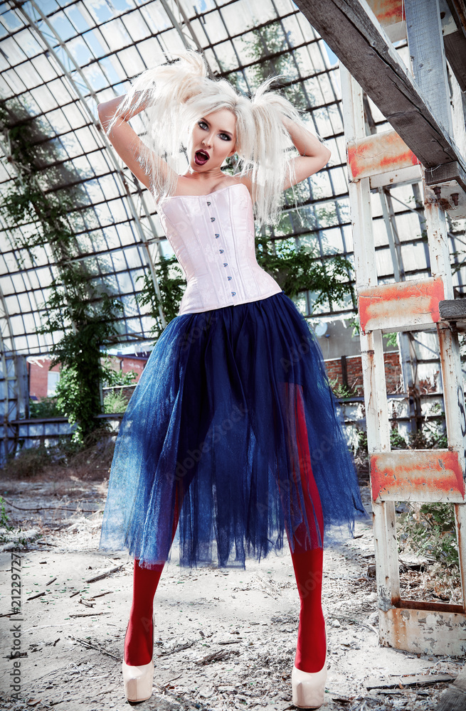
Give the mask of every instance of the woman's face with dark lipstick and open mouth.
<svg viewBox="0 0 466 711">
<path fill-rule="evenodd" d="M 191 143 L 191 168 L 203 173 L 220 168 L 235 153 L 236 117 L 229 109 L 220 109 L 201 117 L 194 126 Z"/>
</svg>

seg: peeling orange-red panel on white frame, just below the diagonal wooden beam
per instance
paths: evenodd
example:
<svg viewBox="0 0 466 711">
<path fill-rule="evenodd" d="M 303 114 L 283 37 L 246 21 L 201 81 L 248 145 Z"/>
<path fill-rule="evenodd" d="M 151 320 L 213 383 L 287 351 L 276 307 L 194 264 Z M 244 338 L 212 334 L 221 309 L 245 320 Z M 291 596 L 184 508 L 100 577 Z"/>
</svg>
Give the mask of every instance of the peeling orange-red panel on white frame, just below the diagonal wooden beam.
<svg viewBox="0 0 466 711">
<path fill-rule="evenodd" d="M 346 150 L 349 174 L 353 180 L 419 163 L 413 151 L 393 129 L 349 141 Z"/>
</svg>

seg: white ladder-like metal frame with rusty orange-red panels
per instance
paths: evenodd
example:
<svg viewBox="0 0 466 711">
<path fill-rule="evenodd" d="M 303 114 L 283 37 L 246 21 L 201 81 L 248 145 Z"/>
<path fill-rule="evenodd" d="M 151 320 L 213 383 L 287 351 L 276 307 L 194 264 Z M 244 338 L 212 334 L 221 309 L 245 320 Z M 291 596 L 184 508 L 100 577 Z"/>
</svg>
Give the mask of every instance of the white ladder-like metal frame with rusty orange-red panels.
<svg viewBox="0 0 466 711">
<path fill-rule="evenodd" d="M 374 146 L 366 137 L 363 91 L 340 67 L 344 129 L 349 150 Z M 369 141 L 369 142 L 368 142 Z M 371 142 L 372 141 L 372 142 Z M 403 146 L 403 166 L 409 157 Z M 374 154 L 375 155 L 375 154 Z M 396 156 L 389 155 L 396 183 Z M 425 223 L 432 277 L 378 286 L 371 215 L 371 187 L 378 182 L 383 159 L 354 176 L 349 171 L 349 201 L 353 225 L 356 290 L 361 316 L 361 356 L 364 374 L 367 440 L 371 461 L 372 508 L 376 550 L 380 641 L 415 653 L 464 655 L 466 652 L 466 416 L 457 335 L 440 320 L 438 302 L 452 299 L 448 229 L 440 203 L 425 193 Z M 408 167 L 408 170 L 409 169 Z M 374 178 L 374 181 L 373 181 Z M 383 181 L 383 174 L 380 181 Z M 448 449 L 391 451 L 383 366 L 382 333 L 436 327 L 443 376 Z M 405 601 L 401 598 L 396 538 L 395 501 L 447 501 L 455 506 L 460 550 L 462 605 Z"/>
</svg>

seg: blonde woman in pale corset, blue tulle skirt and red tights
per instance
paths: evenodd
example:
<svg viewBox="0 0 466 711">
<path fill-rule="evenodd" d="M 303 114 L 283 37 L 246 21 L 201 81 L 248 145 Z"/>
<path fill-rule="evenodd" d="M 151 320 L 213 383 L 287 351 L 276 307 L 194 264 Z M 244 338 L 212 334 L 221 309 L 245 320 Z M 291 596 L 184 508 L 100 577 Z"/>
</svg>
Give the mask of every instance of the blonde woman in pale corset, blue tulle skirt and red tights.
<svg viewBox="0 0 466 711">
<path fill-rule="evenodd" d="M 255 260 L 253 209 L 273 223 L 282 192 L 330 157 L 270 81 L 249 100 L 186 53 L 98 107 L 187 278 L 125 413 L 102 523 L 100 547 L 134 556 L 123 661 L 132 701 L 152 694 L 152 603 L 178 526 L 181 565 L 213 552 L 219 565 L 244 565 L 246 553 L 280 549 L 286 531 L 300 594 L 293 702 L 324 701 L 324 526 L 351 528 L 364 509 L 319 346 Z M 128 124 L 142 109 L 144 143 Z M 235 155 L 231 176 L 221 166 Z"/>
</svg>

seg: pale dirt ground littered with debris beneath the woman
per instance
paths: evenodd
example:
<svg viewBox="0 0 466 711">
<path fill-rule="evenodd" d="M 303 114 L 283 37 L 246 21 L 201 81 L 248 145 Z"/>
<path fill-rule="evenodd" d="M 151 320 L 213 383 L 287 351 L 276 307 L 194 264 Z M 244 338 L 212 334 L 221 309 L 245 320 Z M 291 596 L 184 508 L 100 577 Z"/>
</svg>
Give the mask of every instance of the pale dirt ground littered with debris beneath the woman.
<svg viewBox="0 0 466 711">
<path fill-rule="evenodd" d="M 0 495 L 10 502 L 9 524 L 21 528 L 6 533 L 0 545 L 2 709 L 129 707 L 121 661 L 132 560 L 126 552 L 97 550 L 104 476 L 82 481 L 63 470 L 0 480 Z M 369 506 L 369 490 L 363 496 Z M 18 616 L 11 615 L 12 560 L 14 571 L 21 567 Z M 370 518 L 356 525 L 356 538 L 327 547 L 324 555 L 329 676 L 323 708 L 435 709 L 463 661 L 378 645 L 371 563 Z M 154 609 L 154 693 L 138 705 L 142 710 L 295 708 L 290 673 L 299 606 L 287 550 L 260 564 L 247 561 L 245 570 L 189 570 L 179 567 L 175 542 Z M 11 658 L 14 639 L 19 661 Z M 427 683 L 440 674 L 443 683 Z M 408 675 L 424 678 L 404 685 Z M 21 686 L 18 700 L 11 697 L 12 680 Z"/>
</svg>

